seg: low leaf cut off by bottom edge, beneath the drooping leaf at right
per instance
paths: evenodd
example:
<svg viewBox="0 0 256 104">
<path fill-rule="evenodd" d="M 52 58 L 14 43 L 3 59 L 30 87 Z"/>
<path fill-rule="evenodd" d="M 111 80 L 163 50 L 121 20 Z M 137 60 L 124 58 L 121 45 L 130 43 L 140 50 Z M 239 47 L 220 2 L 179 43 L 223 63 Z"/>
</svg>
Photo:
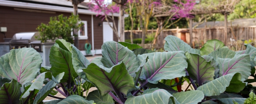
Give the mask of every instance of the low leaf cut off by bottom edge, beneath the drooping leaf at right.
<svg viewBox="0 0 256 104">
<path fill-rule="evenodd" d="M 233 101 L 236 101 L 238 104 L 244 104 L 245 98 L 223 98 L 218 99 L 222 104 L 234 104 Z"/>
</svg>

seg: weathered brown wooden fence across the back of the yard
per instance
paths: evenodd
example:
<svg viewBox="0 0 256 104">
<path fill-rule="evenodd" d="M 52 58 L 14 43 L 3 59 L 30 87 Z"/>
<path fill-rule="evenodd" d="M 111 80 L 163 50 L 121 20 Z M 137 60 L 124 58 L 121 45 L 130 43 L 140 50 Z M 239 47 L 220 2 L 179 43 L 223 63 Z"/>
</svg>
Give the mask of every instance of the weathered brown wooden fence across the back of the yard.
<svg viewBox="0 0 256 104">
<path fill-rule="evenodd" d="M 186 30 L 189 31 L 187 28 L 179 29 L 165 29 L 163 30 L 163 36 L 158 36 L 158 44 L 160 42 L 165 43 L 164 38 L 168 35 L 173 35 L 177 37 L 181 37 L 181 33 L 179 31 Z M 130 30 L 125 31 L 125 39 L 130 39 Z M 156 30 L 148 30 L 148 33 L 155 33 Z M 132 31 L 133 38 L 141 38 L 142 30 L 134 30 Z M 215 28 L 196 28 L 193 29 L 192 34 L 192 41 L 196 44 L 201 42 L 206 42 L 210 39 L 218 39 L 222 41 L 226 46 L 230 44 L 230 38 L 238 40 L 248 40 L 248 39 L 255 39 L 256 38 L 256 26 L 244 26 L 244 27 L 228 27 L 228 36 L 224 36 L 224 27 L 215 27 Z M 225 38 L 227 37 L 227 38 Z M 186 41 L 190 43 L 190 35 L 186 33 Z M 163 47 L 163 46 L 160 46 Z"/>
</svg>

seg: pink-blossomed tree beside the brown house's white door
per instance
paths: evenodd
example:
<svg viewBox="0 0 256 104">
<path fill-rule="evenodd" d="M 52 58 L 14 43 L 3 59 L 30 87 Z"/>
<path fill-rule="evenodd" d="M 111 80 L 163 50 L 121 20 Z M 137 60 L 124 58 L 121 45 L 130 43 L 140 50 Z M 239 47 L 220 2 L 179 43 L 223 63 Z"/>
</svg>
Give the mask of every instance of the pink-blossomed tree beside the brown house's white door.
<svg viewBox="0 0 256 104">
<path fill-rule="evenodd" d="M 122 23 L 122 21 L 124 21 L 124 13 L 120 13 L 120 11 L 123 11 L 124 6 L 124 3 L 122 3 L 122 1 L 125 1 L 125 3 L 127 2 L 127 0 L 113 0 L 113 2 L 116 2 L 115 4 L 104 2 L 104 0 L 90 0 L 89 2 L 90 5 L 93 5 L 92 7 L 90 7 L 90 10 L 98 13 L 96 16 L 99 16 L 100 18 L 102 18 L 102 20 L 105 19 L 108 22 L 109 26 L 113 29 L 114 34 L 116 34 L 118 41 L 124 41 L 124 23 Z M 119 20 L 121 21 L 119 26 L 119 30 L 121 31 L 120 36 L 116 23 L 114 21 L 114 13 L 121 14 L 119 15 Z M 110 24 L 110 22 L 113 22 L 113 26 Z"/>
</svg>

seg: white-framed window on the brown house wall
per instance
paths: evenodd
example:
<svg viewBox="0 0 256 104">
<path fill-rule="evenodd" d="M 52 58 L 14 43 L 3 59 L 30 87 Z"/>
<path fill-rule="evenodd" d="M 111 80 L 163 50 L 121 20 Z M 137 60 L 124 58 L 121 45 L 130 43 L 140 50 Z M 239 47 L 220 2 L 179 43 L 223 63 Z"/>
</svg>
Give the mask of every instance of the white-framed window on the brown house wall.
<svg viewBox="0 0 256 104">
<path fill-rule="evenodd" d="M 87 21 L 81 21 L 81 22 L 83 22 L 84 25 L 81 26 L 81 28 L 78 30 L 78 39 L 79 40 L 88 39 Z M 73 36 L 73 29 L 72 29 L 71 35 Z"/>
</svg>

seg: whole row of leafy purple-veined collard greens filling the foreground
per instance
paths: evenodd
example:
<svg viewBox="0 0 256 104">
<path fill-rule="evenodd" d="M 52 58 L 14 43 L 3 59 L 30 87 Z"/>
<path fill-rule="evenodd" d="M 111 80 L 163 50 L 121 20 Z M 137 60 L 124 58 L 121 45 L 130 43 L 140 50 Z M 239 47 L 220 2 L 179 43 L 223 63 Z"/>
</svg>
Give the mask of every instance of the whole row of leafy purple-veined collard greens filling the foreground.
<svg viewBox="0 0 256 104">
<path fill-rule="evenodd" d="M 255 47 L 246 44 L 246 50 L 234 52 L 214 39 L 198 50 L 175 36 L 165 40 L 167 52 L 104 42 L 102 57 L 87 60 L 71 43 L 57 39 L 49 57 L 52 67 L 42 67 L 33 48 L 13 49 L 0 57 L 0 103 L 42 104 L 47 96 L 59 100 L 46 104 L 255 102 L 250 91 L 256 88 L 248 84 L 256 81 L 248 79 L 255 76 Z M 191 90 L 178 89 L 184 79 Z M 92 87 L 97 90 L 89 92 Z"/>
</svg>

